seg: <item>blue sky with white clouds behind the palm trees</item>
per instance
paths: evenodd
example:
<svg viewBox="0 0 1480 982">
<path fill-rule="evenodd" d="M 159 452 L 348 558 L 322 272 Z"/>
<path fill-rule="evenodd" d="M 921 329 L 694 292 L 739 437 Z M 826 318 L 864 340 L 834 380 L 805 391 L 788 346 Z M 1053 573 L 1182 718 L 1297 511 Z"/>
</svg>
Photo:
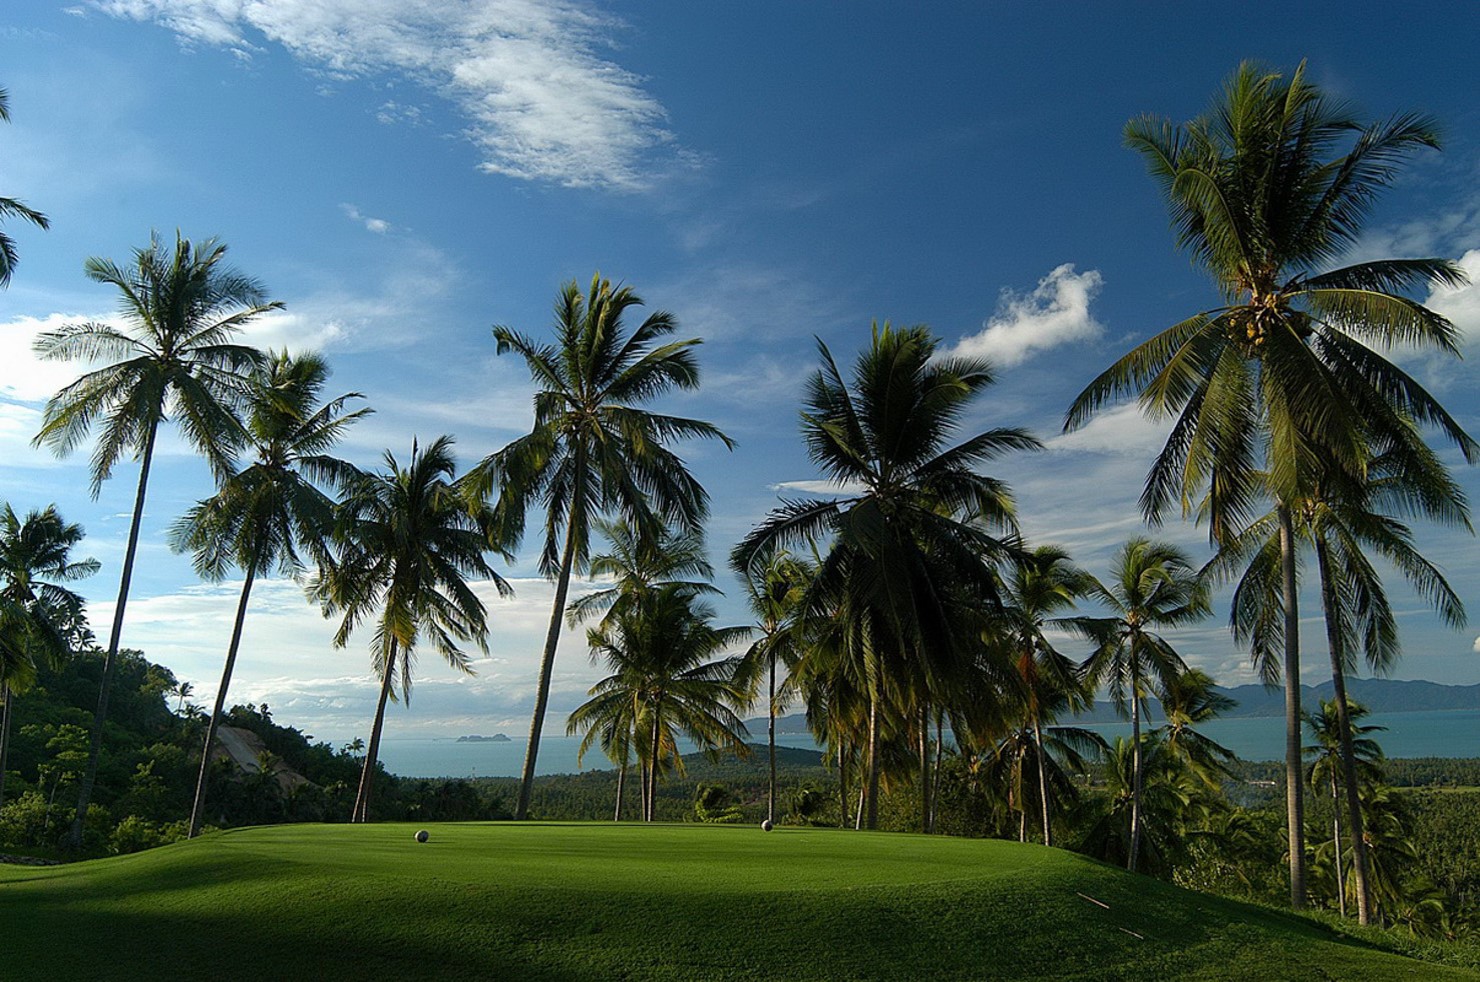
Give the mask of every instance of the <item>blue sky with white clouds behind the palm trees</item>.
<svg viewBox="0 0 1480 982">
<path fill-rule="evenodd" d="M 1439 16 L 1443 10 L 1447 16 Z M 1427 16 L 1424 16 L 1427 15 Z M 716 558 L 815 475 L 798 436 L 814 336 L 841 361 L 872 319 L 929 324 L 992 356 L 1000 382 L 971 426 L 1048 442 L 992 470 L 1035 543 L 1097 572 L 1143 531 L 1135 506 L 1162 427 L 1134 407 L 1060 436 L 1083 385 L 1147 334 L 1212 306 L 1174 250 L 1141 161 L 1141 112 L 1185 120 L 1254 58 L 1311 77 L 1369 117 L 1436 115 L 1425 154 L 1375 209 L 1366 257 L 1446 256 L 1480 280 L 1480 9 L 1400 4 L 540 3 L 536 0 L 28 1 L 0 13 L 0 194 L 50 216 L 9 223 L 21 265 L 0 293 L 0 497 L 56 501 L 104 571 L 111 615 L 136 470 L 93 501 L 86 454 L 28 447 L 75 365 L 30 355 L 38 330 L 107 318 L 87 256 L 126 259 L 178 228 L 219 235 L 286 312 L 262 346 L 320 349 L 336 392 L 376 416 L 343 453 L 373 466 L 411 438 L 454 433 L 469 464 L 527 430 L 530 385 L 490 327 L 542 334 L 561 282 L 625 281 L 700 336 L 703 387 L 666 410 L 740 447 L 688 445 L 713 497 Z M 1396 356 L 1480 433 L 1480 287 L 1428 297 L 1467 337 L 1462 364 Z M 1471 497 L 1480 479 L 1462 470 Z M 200 584 L 163 529 L 210 492 L 175 438 L 152 479 L 124 643 L 215 691 L 240 583 Z M 1162 532 L 1206 555 L 1202 529 Z M 1480 623 L 1468 535 L 1421 529 Z M 551 589 L 533 553 L 488 590 L 491 655 L 477 677 L 420 661 L 388 736 L 518 732 L 533 701 Z M 728 574 L 721 586 L 737 595 Z M 1450 631 L 1399 584 L 1399 677 L 1480 680 L 1474 626 Z M 1313 608 L 1308 608 L 1313 609 Z M 743 608 L 722 605 L 730 621 Z M 1252 674 L 1227 608 L 1178 636 L 1234 685 Z M 1307 620 L 1307 680 L 1325 674 Z M 367 639 L 332 651 L 292 583 L 260 584 L 232 686 L 321 738 L 369 729 Z M 1072 649 L 1072 648 L 1070 648 Z M 580 631 L 556 663 L 548 732 L 599 676 Z"/>
</svg>

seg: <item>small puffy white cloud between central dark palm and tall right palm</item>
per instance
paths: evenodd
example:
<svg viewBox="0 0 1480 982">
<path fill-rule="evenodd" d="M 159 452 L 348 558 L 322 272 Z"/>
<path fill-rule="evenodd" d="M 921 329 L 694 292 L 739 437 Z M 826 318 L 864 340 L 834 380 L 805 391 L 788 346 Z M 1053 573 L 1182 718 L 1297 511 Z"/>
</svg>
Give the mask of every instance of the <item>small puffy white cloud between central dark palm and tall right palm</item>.
<svg viewBox="0 0 1480 982">
<path fill-rule="evenodd" d="M 1100 271 L 1074 272 L 1073 263 L 1064 263 L 1039 280 L 1032 293 L 1003 290 L 998 312 L 981 333 L 961 339 L 949 353 L 1009 367 L 1049 348 L 1100 337 L 1104 327 L 1089 314 L 1089 303 L 1103 282 Z"/>
</svg>

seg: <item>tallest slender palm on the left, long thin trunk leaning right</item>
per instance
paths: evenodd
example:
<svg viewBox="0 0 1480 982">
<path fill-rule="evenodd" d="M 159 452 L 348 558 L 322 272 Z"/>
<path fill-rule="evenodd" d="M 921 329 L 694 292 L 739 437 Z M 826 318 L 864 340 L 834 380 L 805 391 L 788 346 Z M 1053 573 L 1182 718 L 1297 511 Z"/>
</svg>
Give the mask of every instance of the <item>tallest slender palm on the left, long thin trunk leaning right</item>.
<svg viewBox="0 0 1480 982">
<path fill-rule="evenodd" d="M 99 438 L 90 466 L 95 498 L 120 457 L 139 458 L 139 487 L 123 553 L 118 600 L 112 608 L 92 745 L 68 839 L 74 847 L 81 843 L 81 819 L 98 775 L 108 689 L 123 636 L 160 423 L 175 420 L 184 427 L 189 442 L 206 454 L 216 478 L 225 479 L 241 438 L 234 408 L 246 396 L 247 373 L 262 361 L 260 352 L 232 339 L 255 316 L 283 306 L 268 302 L 256 280 L 226 266 L 225 254 L 226 247 L 213 238 L 191 246 L 176 234 L 173 250 L 152 235 L 147 248 L 135 250 L 132 266 L 95 256 L 83 269 L 89 280 L 118 290 L 126 325 L 68 324 L 36 339 L 36 352 L 44 359 L 111 364 L 86 373 L 52 396 L 41 432 L 33 442 L 47 444 L 58 456 L 67 456 L 96 427 Z"/>
</svg>

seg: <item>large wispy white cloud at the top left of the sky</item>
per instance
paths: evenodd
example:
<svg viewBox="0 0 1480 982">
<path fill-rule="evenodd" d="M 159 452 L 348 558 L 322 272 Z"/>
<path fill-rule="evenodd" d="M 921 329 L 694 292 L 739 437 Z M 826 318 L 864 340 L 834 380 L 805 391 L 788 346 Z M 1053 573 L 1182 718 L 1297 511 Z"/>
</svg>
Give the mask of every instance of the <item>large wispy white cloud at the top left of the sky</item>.
<svg viewBox="0 0 1480 982">
<path fill-rule="evenodd" d="M 448 98 L 491 173 L 636 191 L 672 148 L 642 78 L 602 58 L 617 18 L 570 0 L 95 0 L 186 43 L 262 37 L 336 78 L 395 72 Z M 382 106 L 392 120 L 406 108 Z M 672 157 L 682 158 L 681 152 Z"/>
</svg>

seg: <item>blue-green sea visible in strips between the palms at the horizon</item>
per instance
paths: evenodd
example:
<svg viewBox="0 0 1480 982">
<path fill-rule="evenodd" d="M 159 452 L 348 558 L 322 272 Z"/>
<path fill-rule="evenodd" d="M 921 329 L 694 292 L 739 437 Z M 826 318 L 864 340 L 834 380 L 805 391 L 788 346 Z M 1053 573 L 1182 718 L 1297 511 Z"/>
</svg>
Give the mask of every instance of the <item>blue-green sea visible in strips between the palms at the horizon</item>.
<svg viewBox="0 0 1480 982">
<path fill-rule="evenodd" d="M 1480 757 L 1480 710 L 1427 710 L 1418 713 L 1372 713 L 1368 725 L 1385 726 L 1372 736 L 1388 757 Z M 1129 723 L 1091 723 L 1106 739 L 1129 736 Z M 1212 720 L 1199 732 L 1218 741 L 1243 760 L 1285 759 L 1285 717 L 1245 716 Z M 753 732 L 762 742 L 765 731 Z M 808 734 L 777 734 L 781 747 L 817 750 Z M 585 768 L 576 766 L 579 736 L 549 735 L 540 741 L 537 773 L 576 773 L 605 771 L 614 765 L 599 750 L 586 754 Z M 685 753 L 693 747 L 681 747 Z M 386 738 L 380 744 L 386 771 L 404 778 L 517 778 L 524 768 L 524 738 L 505 741 L 457 742 L 445 738 Z"/>
</svg>

